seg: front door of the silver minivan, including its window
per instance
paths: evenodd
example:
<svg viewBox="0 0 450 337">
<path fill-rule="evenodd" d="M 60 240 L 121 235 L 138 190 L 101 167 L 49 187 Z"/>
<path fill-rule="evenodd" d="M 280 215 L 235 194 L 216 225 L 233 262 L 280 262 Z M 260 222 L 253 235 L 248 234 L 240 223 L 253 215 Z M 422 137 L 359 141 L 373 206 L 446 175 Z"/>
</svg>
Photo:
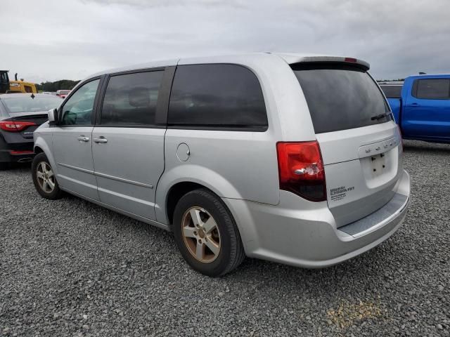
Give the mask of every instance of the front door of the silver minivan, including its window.
<svg viewBox="0 0 450 337">
<path fill-rule="evenodd" d="M 94 79 L 80 86 L 61 107 L 60 123 L 53 128 L 59 185 L 94 200 L 98 192 L 91 138 L 99 82 Z"/>
</svg>

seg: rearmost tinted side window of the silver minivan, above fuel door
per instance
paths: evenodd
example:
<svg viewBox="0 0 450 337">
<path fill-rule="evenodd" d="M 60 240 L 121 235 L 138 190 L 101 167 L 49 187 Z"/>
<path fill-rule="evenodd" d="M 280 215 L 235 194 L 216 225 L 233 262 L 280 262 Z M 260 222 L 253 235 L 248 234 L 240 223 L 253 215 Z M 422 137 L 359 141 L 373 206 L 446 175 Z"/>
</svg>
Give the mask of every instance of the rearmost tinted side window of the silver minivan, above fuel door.
<svg viewBox="0 0 450 337">
<path fill-rule="evenodd" d="M 170 95 L 168 124 L 207 128 L 267 128 L 255 74 L 240 65 L 181 65 Z"/>
</svg>

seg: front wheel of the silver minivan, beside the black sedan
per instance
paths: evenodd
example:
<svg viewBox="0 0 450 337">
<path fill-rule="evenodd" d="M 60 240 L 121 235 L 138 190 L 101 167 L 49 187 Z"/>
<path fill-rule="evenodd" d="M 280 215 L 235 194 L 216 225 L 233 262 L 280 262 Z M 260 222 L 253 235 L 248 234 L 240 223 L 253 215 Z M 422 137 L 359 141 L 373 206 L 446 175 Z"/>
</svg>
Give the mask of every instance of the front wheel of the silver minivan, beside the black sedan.
<svg viewBox="0 0 450 337">
<path fill-rule="evenodd" d="M 46 168 L 43 170 L 43 168 Z M 49 200 L 56 200 L 63 197 L 63 191 L 60 190 L 56 176 L 53 175 L 53 170 L 49 159 L 41 152 L 37 154 L 31 165 L 31 172 L 33 177 L 34 187 L 41 197 Z M 44 173 L 44 176 L 42 176 Z M 47 181 L 48 183 L 45 183 Z M 53 187 L 53 188 L 52 188 Z"/>
</svg>

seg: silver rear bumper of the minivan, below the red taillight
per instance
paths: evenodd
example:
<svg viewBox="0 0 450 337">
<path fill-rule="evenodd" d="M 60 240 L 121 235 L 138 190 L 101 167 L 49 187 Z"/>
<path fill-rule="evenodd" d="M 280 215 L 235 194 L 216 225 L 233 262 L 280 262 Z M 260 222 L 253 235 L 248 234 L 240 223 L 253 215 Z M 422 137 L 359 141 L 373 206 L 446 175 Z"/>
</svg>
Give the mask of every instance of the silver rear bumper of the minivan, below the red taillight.
<svg viewBox="0 0 450 337">
<path fill-rule="evenodd" d="M 391 201 L 340 228 L 326 202 L 309 202 L 290 192 L 280 191 L 277 206 L 224 201 L 236 218 L 247 256 L 318 268 L 358 256 L 394 234 L 406 216 L 409 188 L 409 175 L 404 171 Z"/>
</svg>

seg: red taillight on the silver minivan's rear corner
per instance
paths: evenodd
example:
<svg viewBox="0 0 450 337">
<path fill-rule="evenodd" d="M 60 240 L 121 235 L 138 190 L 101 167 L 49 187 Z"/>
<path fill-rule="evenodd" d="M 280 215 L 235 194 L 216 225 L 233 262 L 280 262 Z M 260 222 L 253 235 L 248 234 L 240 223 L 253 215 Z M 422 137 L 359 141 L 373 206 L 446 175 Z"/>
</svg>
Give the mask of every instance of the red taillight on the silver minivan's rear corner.
<svg viewBox="0 0 450 337">
<path fill-rule="evenodd" d="M 325 170 L 319 143 L 277 143 L 280 189 L 309 201 L 326 201 Z"/>
</svg>

